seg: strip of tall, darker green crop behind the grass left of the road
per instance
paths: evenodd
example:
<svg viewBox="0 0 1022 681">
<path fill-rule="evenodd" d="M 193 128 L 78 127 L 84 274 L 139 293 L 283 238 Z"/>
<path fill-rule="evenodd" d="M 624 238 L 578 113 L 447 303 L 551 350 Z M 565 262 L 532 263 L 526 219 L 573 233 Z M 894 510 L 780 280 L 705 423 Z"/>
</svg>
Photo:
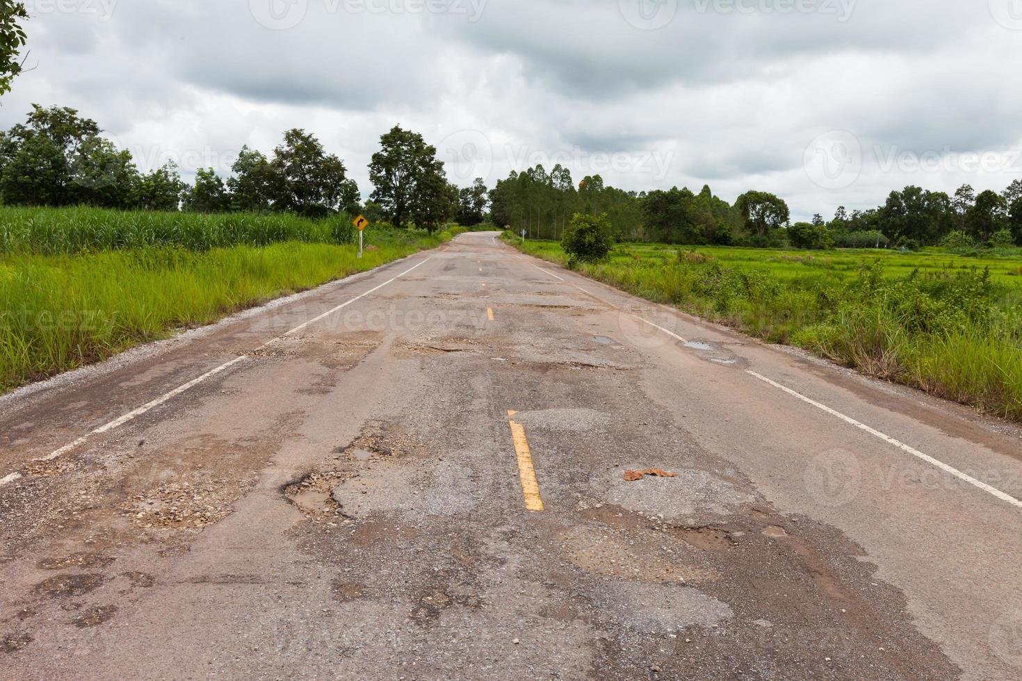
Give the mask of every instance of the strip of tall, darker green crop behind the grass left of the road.
<svg viewBox="0 0 1022 681">
<path fill-rule="evenodd" d="M 151 246 L 203 251 L 282 241 L 350 244 L 356 238 L 343 213 L 309 220 L 290 213 L 0 206 L 0 253 L 84 253 Z"/>
</svg>

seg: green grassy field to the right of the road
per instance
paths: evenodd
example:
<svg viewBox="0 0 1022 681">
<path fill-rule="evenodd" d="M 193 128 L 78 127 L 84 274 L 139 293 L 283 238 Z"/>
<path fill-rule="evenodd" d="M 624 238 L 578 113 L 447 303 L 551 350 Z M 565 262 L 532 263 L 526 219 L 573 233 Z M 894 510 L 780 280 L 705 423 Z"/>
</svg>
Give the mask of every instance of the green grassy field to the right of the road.
<svg viewBox="0 0 1022 681">
<path fill-rule="evenodd" d="M 560 244 L 522 243 L 565 264 Z M 1022 257 L 619 244 L 582 274 L 1022 422 Z"/>
</svg>

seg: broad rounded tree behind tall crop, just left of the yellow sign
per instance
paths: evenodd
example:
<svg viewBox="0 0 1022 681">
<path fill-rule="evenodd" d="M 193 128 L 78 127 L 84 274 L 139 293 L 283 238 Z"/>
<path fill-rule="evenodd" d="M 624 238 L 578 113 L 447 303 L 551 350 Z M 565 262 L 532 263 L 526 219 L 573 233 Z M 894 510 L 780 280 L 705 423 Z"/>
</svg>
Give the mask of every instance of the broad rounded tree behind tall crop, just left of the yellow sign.
<svg viewBox="0 0 1022 681">
<path fill-rule="evenodd" d="M 325 215 L 342 204 L 358 202 L 358 187 L 346 178 L 344 163 L 327 154 L 319 140 L 304 130 L 284 133 L 270 168 L 270 191 L 278 210 Z"/>
</svg>

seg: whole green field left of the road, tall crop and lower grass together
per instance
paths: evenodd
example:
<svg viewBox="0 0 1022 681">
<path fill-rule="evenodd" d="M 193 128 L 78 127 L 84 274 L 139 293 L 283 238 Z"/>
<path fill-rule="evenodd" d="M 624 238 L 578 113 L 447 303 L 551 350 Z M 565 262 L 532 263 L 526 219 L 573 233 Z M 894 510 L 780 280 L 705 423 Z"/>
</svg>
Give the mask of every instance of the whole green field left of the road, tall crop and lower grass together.
<svg viewBox="0 0 1022 681">
<path fill-rule="evenodd" d="M 98 225 L 106 213 L 111 223 L 123 226 L 138 225 L 139 215 L 148 215 L 74 208 L 63 211 L 67 224 L 61 224 L 60 212 L 35 213 L 44 215 L 45 233 L 53 235 L 48 242 L 39 237 L 44 232 L 38 225 L 18 223 L 19 216 L 32 211 L 0 208 L 5 234 L 37 235 L 29 241 L 8 241 L 18 245 L 0 253 L 0 392 L 102 360 L 177 329 L 208 324 L 378 266 L 452 237 L 451 232 L 430 237 L 424 232 L 370 229 L 368 250 L 359 259 L 356 246 L 335 243 L 328 221 L 258 216 L 245 224 L 261 226 L 264 235 L 276 235 L 266 245 L 246 243 L 260 233 L 254 230 L 248 237 L 237 237 L 240 245 L 208 247 L 222 242 L 222 235 L 238 224 L 236 215 L 157 213 L 150 224 L 179 226 L 178 241 L 161 237 L 153 242 L 159 245 L 140 247 L 139 241 L 118 239 L 98 247 L 101 240 L 86 239 L 76 231 L 81 216 Z M 275 217 L 279 225 L 273 223 Z M 189 235 L 199 236 L 191 240 Z M 83 243 L 89 246 L 67 246 Z"/>
</svg>

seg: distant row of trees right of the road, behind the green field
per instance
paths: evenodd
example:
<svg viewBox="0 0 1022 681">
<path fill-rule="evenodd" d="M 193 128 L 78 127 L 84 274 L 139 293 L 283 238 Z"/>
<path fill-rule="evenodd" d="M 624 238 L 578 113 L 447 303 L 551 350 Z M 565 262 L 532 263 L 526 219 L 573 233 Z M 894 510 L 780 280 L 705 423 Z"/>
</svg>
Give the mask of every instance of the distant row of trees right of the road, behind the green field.
<svg viewBox="0 0 1022 681">
<path fill-rule="evenodd" d="M 607 213 L 614 236 L 628 241 L 679 244 L 781 246 L 798 248 L 883 248 L 1022 245 L 1022 181 L 1003 193 L 978 195 L 965 185 L 955 196 L 919 187 L 893 191 L 884 205 L 833 220 L 791 223 L 784 199 L 769 192 L 742 194 L 734 205 L 708 186 L 698 194 L 687 188 L 625 192 L 606 187 L 600 176 L 575 187 L 561 165 L 511 173 L 490 192 L 493 220 L 536 238 L 559 239 L 575 212 Z"/>
</svg>

